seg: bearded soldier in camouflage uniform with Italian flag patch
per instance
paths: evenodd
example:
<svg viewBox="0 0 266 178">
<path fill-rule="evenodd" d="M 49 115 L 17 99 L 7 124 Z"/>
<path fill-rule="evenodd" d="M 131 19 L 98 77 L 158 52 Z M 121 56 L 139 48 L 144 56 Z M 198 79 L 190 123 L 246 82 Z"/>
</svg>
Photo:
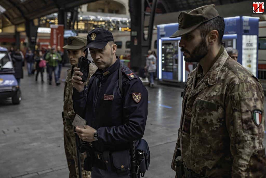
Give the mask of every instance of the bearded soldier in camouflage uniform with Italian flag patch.
<svg viewBox="0 0 266 178">
<path fill-rule="evenodd" d="M 182 177 L 266 177 L 261 83 L 221 46 L 225 23 L 214 5 L 183 11 L 178 21 L 172 38 L 181 37 L 185 61 L 198 65 L 181 94 L 172 169 L 180 175 L 182 156 Z"/>
</svg>

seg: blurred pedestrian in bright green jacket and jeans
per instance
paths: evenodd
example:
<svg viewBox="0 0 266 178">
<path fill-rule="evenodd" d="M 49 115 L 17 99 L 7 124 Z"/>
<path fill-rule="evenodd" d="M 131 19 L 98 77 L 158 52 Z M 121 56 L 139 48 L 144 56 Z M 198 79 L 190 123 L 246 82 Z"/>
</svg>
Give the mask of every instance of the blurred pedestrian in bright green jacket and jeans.
<svg viewBox="0 0 266 178">
<path fill-rule="evenodd" d="M 45 60 L 47 60 L 49 68 L 49 85 L 52 85 L 52 73 L 55 75 L 56 86 L 60 85 L 58 81 L 58 62 L 62 60 L 60 54 L 55 51 L 55 48 L 52 48 L 51 52 L 46 54 Z"/>
</svg>

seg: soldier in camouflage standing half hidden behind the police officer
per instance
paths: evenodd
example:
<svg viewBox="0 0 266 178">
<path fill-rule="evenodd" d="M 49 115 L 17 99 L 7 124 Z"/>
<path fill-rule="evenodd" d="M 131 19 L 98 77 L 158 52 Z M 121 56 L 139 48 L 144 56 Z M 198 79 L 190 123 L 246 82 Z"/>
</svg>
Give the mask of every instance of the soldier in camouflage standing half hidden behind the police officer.
<svg viewBox="0 0 266 178">
<path fill-rule="evenodd" d="M 73 75 L 73 68 L 77 67 L 78 58 L 83 55 L 83 50 L 86 47 L 87 39 L 84 37 L 69 37 L 67 40 L 68 44 L 63 48 L 68 51 L 68 58 L 72 67 L 67 70 L 67 77 L 65 80 L 64 89 L 64 112 L 63 112 L 63 122 L 64 122 L 64 145 L 66 160 L 69 169 L 69 178 L 78 177 L 78 164 L 77 164 L 77 149 L 74 127 L 72 126 L 73 119 L 75 117 L 75 112 L 73 109 L 73 84 L 71 78 Z M 97 66 L 94 63 L 90 63 L 89 66 L 89 76 L 88 79 L 97 70 Z M 88 80 L 89 81 L 89 80 Z M 86 153 L 81 153 L 81 166 L 82 166 L 82 177 L 90 178 L 91 174 L 83 169 L 84 159 L 86 158 Z"/>
</svg>

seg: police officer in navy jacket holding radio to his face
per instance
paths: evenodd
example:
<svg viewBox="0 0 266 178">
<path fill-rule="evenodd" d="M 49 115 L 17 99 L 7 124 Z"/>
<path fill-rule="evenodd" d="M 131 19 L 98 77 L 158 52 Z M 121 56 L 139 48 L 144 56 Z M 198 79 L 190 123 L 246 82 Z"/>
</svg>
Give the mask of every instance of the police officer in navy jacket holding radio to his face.
<svg viewBox="0 0 266 178">
<path fill-rule="evenodd" d="M 94 160 L 92 178 L 130 177 L 130 143 L 143 137 L 148 92 L 138 76 L 115 56 L 117 45 L 110 31 L 95 28 L 87 40 L 98 70 L 85 86 L 78 76 L 82 72 L 74 68 L 74 111 L 87 121 L 85 128 L 76 127 L 76 132 L 93 148 L 89 158 Z"/>
</svg>

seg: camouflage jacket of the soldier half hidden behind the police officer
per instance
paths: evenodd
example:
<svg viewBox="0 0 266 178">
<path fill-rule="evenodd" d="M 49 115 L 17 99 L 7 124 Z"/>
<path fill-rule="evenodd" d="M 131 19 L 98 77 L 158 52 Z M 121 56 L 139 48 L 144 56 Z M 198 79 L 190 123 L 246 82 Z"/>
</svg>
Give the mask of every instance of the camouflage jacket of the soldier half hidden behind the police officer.
<svg viewBox="0 0 266 178">
<path fill-rule="evenodd" d="M 73 100 L 72 100 L 73 83 L 71 82 L 73 75 L 73 68 L 74 66 L 72 66 L 70 69 L 67 70 L 67 77 L 65 80 L 65 89 L 64 89 L 64 107 L 63 107 L 64 119 L 70 119 L 70 120 L 73 120 L 75 117 L 75 112 L 73 109 Z M 92 77 L 92 75 L 97 69 L 98 68 L 94 63 L 90 63 L 88 81 L 86 85 L 88 84 L 89 79 Z"/>
</svg>

